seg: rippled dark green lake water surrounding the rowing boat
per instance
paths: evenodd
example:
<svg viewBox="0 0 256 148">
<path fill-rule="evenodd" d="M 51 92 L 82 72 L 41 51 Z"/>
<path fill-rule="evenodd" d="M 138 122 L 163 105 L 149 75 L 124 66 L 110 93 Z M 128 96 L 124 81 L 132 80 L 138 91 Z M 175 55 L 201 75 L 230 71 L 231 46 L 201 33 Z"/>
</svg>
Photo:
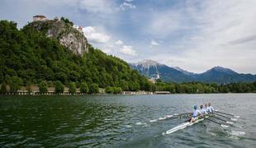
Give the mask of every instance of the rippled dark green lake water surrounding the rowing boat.
<svg viewBox="0 0 256 148">
<path fill-rule="evenodd" d="M 240 118 L 168 135 L 187 118 L 152 122 L 208 102 Z M 255 106 L 256 94 L 0 96 L 0 147 L 255 147 Z"/>
</svg>

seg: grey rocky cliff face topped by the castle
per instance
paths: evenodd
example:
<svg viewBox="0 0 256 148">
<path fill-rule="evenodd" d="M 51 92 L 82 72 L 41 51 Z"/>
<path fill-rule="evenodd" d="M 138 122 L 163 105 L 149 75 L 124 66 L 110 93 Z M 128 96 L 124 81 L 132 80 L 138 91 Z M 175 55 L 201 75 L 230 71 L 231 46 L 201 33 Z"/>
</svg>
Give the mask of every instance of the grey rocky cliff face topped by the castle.
<svg viewBox="0 0 256 148">
<path fill-rule="evenodd" d="M 73 53 L 78 55 L 88 53 L 88 40 L 83 32 L 73 28 L 67 22 L 59 20 L 33 21 L 29 25 L 38 31 L 42 31 L 50 38 L 58 39 L 60 44 Z"/>
</svg>

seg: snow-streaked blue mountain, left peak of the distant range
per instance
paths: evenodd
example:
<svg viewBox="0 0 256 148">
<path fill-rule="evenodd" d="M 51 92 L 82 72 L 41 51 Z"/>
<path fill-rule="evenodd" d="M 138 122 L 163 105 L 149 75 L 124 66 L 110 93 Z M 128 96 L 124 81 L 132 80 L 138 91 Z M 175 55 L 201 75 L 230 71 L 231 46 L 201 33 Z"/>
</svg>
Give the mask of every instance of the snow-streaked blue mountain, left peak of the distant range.
<svg viewBox="0 0 256 148">
<path fill-rule="evenodd" d="M 192 81 L 193 79 L 192 76 L 189 76 L 184 72 L 178 71 L 173 67 L 168 67 L 153 60 L 130 63 L 130 66 L 141 74 L 153 79 L 162 79 L 164 81 L 175 82 Z"/>
</svg>

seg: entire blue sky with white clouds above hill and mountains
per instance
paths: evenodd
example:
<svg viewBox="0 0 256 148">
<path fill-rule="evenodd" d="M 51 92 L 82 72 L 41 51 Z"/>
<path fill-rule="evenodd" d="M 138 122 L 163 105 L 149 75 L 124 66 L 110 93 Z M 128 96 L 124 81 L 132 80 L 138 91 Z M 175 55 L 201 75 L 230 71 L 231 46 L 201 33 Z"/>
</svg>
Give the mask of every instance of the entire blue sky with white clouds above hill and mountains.
<svg viewBox="0 0 256 148">
<path fill-rule="evenodd" d="M 1 0 L 0 20 L 64 16 L 89 43 L 126 62 L 189 72 L 221 66 L 256 74 L 255 0 Z"/>
</svg>

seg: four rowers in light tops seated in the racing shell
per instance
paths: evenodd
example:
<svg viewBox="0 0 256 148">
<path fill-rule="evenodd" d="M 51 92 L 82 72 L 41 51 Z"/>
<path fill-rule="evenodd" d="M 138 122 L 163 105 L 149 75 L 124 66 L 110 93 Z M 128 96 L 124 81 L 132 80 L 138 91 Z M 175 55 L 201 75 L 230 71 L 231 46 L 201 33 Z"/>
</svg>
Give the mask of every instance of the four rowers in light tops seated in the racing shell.
<svg viewBox="0 0 256 148">
<path fill-rule="evenodd" d="M 193 123 L 197 121 L 198 118 L 203 118 L 204 115 L 207 115 L 209 113 L 213 113 L 214 109 L 211 106 L 211 103 L 205 104 L 205 107 L 203 105 L 200 105 L 200 109 L 197 109 L 197 105 L 194 106 L 194 110 L 192 112 L 192 118 L 190 119 L 190 122 Z"/>
</svg>

